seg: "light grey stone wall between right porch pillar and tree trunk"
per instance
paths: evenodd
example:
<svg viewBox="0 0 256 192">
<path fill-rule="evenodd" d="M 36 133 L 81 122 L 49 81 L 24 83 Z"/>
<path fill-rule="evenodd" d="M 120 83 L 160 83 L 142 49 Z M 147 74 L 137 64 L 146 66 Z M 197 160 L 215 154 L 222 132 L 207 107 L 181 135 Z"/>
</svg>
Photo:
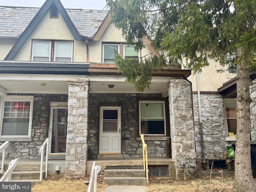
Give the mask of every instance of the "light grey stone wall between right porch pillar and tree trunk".
<svg viewBox="0 0 256 192">
<path fill-rule="evenodd" d="M 223 98 L 220 94 L 200 94 L 205 160 L 222 160 L 226 152 Z M 202 160 L 198 94 L 193 94 L 196 157 Z"/>
</svg>

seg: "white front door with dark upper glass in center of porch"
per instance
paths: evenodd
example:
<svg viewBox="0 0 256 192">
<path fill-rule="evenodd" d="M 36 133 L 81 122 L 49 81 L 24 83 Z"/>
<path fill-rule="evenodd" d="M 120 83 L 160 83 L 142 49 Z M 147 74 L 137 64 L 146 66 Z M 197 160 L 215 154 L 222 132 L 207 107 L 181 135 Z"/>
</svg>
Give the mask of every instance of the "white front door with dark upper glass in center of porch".
<svg viewBox="0 0 256 192">
<path fill-rule="evenodd" d="M 121 107 L 100 107 L 99 154 L 121 153 Z"/>
</svg>

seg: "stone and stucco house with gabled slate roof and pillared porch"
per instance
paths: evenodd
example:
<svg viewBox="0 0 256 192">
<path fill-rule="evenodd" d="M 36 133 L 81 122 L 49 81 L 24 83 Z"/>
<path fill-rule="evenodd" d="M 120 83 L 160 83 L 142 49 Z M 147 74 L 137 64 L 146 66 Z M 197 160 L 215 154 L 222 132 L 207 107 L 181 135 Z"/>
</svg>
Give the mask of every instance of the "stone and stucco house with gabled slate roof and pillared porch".
<svg viewBox="0 0 256 192">
<path fill-rule="evenodd" d="M 106 10 L 66 9 L 60 0 L 39 8 L 0 6 L 0 144 L 6 158 L 65 160 L 66 176 L 82 176 L 97 158 L 196 158 L 190 70 L 154 72 L 150 89 L 134 86 L 114 65 L 114 53 L 139 58 L 110 24 Z M 183 173 L 184 168 L 181 169 Z"/>
</svg>

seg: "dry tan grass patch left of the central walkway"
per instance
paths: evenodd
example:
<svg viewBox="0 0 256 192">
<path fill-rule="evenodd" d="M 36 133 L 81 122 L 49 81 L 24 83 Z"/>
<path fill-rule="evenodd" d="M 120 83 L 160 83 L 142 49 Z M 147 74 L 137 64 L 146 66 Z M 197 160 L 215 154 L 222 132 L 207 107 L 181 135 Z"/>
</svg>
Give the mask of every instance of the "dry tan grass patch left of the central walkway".
<svg viewBox="0 0 256 192">
<path fill-rule="evenodd" d="M 32 187 L 31 192 L 86 192 L 88 185 L 84 181 L 88 178 L 52 178 L 43 180 L 41 184 Z M 93 185 L 92 185 L 93 187 Z M 102 191 L 106 185 L 97 182 L 97 191 Z"/>
</svg>

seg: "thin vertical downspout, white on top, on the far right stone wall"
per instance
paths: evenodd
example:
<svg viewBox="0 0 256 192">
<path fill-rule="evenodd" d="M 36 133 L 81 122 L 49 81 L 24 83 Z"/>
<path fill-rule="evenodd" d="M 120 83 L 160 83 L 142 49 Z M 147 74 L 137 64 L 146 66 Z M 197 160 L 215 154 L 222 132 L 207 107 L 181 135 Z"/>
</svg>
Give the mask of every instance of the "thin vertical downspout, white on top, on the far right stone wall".
<svg viewBox="0 0 256 192">
<path fill-rule="evenodd" d="M 197 85 L 197 96 L 198 96 L 198 112 L 199 112 L 199 127 L 201 136 L 201 147 L 202 147 L 202 166 L 205 170 L 206 161 L 204 156 L 204 137 L 203 137 L 203 126 L 202 126 L 202 111 L 201 111 L 201 99 L 200 99 L 200 84 L 199 84 L 199 74 L 196 72 L 196 85 Z"/>
</svg>

